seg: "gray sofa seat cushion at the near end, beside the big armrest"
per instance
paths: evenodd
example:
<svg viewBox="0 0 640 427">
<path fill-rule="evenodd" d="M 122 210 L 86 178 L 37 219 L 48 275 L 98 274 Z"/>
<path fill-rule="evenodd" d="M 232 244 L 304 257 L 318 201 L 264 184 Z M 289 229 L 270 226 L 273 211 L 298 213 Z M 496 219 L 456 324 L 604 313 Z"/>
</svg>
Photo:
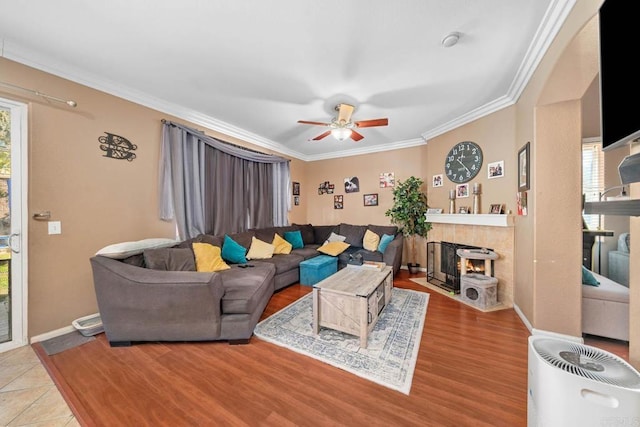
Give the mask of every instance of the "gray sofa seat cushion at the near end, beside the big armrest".
<svg viewBox="0 0 640 427">
<path fill-rule="evenodd" d="M 254 313 L 264 298 L 269 298 L 273 293 L 275 267 L 266 262 L 256 262 L 253 265 L 251 268 L 234 265 L 219 273 L 225 289 L 221 301 L 222 313 Z"/>
</svg>

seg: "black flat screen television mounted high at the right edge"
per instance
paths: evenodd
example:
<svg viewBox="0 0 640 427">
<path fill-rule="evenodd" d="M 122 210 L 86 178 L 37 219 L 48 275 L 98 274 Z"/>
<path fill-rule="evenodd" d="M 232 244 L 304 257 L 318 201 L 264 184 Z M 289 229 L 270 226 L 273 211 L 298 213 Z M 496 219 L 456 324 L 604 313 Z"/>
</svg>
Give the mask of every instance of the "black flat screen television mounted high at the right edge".
<svg viewBox="0 0 640 427">
<path fill-rule="evenodd" d="M 635 2 L 606 0 L 600 7 L 600 126 L 602 148 L 640 137 L 640 48 Z"/>
</svg>

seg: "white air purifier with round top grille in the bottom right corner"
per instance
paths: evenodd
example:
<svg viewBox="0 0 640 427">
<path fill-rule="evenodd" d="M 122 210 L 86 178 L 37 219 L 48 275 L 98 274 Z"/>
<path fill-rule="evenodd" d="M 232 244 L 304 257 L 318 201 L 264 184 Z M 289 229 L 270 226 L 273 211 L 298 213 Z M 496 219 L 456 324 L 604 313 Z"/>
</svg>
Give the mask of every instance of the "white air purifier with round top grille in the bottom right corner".
<svg viewBox="0 0 640 427">
<path fill-rule="evenodd" d="M 584 344 L 529 337 L 528 427 L 640 423 L 640 373 Z"/>
</svg>

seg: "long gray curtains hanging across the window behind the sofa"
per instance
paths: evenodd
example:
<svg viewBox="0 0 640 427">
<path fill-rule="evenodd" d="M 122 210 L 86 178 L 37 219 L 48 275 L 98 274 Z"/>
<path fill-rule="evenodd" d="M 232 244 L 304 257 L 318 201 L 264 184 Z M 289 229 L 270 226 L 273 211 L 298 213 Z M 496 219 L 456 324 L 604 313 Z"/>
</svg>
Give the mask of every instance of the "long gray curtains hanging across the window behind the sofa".
<svg viewBox="0 0 640 427">
<path fill-rule="evenodd" d="M 159 212 L 181 239 L 287 225 L 289 161 L 163 121 Z"/>
</svg>

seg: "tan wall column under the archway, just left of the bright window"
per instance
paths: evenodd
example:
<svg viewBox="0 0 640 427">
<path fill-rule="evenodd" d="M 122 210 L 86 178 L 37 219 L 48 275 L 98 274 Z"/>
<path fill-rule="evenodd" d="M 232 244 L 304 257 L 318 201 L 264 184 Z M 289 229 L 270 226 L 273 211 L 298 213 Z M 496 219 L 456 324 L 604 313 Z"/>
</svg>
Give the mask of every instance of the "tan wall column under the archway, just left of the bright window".
<svg viewBox="0 0 640 427">
<path fill-rule="evenodd" d="M 582 336 L 582 173 L 580 101 L 539 107 L 532 157 L 536 329 Z M 556 173 L 556 171 L 560 173 Z M 573 267 L 570 267 L 573 266 Z"/>
</svg>

